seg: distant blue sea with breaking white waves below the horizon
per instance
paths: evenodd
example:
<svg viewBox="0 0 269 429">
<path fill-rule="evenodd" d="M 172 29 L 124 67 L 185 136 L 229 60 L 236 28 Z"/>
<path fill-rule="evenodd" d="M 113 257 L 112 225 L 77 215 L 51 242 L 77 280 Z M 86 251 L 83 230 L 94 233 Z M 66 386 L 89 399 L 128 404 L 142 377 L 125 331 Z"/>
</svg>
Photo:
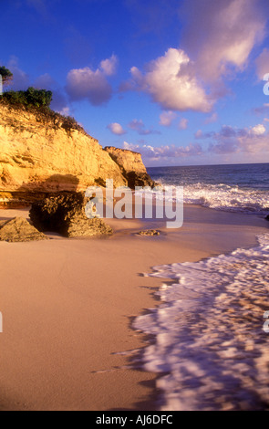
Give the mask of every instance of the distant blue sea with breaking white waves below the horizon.
<svg viewBox="0 0 269 429">
<path fill-rule="evenodd" d="M 148 173 L 163 185 L 183 186 L 185 203 L 269 214 L 269 163 L 154 167 Z"/>
</svg>

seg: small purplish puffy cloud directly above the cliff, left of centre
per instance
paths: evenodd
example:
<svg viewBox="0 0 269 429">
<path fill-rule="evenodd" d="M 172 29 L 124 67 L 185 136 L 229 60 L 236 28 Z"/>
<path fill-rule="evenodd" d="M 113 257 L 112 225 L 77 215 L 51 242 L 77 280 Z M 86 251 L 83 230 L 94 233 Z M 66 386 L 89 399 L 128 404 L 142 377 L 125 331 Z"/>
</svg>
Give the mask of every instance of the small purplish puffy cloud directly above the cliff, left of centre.
<svg viewBox="0 0 269 429">
<path fill-rule="evenodd" d="M 112 97 L 112 88 L 106 77 L 109 70 L 112 70 L 109 59 L 102 61 L 97 70 L 88 67 L 70 70 L 66 85 L 69 99 L 71 101 L 88 99 L 93 106 L 107 103 Z"/>
</svg>

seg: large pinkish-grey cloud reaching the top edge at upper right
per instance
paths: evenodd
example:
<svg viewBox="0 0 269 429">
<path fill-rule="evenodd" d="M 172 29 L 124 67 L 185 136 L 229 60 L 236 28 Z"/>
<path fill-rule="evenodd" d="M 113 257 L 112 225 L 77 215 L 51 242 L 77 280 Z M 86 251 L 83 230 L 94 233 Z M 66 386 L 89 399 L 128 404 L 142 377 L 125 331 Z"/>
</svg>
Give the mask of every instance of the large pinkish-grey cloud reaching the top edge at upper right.
<svg viewBox="0 0 269 429">
<path fill-rule="evenodd" d="M 265 35 L 266 15 L 260 0 L 188 0 L 181 17 L 183 47 L 195 60 L 200 76 L 211 83 L 233 68 L 243 70 L 253 47 Z"/>
</svg>

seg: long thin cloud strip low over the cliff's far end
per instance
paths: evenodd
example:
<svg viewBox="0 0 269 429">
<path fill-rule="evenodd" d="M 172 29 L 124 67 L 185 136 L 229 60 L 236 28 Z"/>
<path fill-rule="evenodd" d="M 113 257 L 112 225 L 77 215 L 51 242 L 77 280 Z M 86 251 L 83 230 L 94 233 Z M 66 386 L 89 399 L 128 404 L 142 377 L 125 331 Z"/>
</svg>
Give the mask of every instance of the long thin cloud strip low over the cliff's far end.
<svg viewBox="0 0 269 429">
<path fill-rule="evenodd" d="M 165 145 L 153 147 L 149 144 L 132 144 L 124 141 L 123 149 L 140 152 L 142 157 L 148 161 L 166 161 L 174 158 L 185 158 L 187 156 L 202 155 L 202 146 L 200 144 L 190 143 L 188 146 Z"/>
</svg>

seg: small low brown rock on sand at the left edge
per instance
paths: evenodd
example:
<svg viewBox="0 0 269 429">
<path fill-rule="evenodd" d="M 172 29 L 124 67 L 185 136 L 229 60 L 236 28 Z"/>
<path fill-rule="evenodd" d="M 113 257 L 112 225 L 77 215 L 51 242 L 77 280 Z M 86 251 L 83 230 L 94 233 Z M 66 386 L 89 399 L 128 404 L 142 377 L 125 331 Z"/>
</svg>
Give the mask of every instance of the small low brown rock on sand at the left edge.
<svg viewBox="0 0 269 429">
<path fill-rule="evenodd" d="M 35 226 L 30 225 L 23 217 L 15 217 L 0 224 L 0 241 L 19 243 L 47 239 L 46 235 L 37 231 Z"/>
</svg>

